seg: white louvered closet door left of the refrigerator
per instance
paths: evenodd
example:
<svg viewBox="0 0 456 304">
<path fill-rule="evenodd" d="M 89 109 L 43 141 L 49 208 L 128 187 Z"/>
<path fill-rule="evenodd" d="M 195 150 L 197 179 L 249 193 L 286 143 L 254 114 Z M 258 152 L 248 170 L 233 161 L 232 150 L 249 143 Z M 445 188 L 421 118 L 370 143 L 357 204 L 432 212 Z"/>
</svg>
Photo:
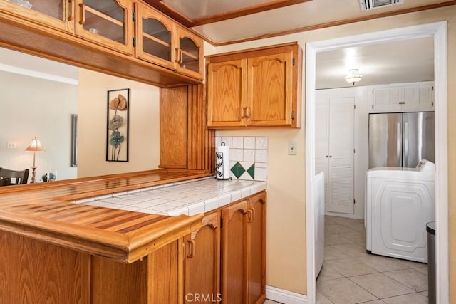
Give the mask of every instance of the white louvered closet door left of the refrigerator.
<svg viewBox="0 0 456 304">
<path fill-rule="evenodd" d="M 354 98 L 329 100 L 329 207 L 353 214 Z"/>
</svg>

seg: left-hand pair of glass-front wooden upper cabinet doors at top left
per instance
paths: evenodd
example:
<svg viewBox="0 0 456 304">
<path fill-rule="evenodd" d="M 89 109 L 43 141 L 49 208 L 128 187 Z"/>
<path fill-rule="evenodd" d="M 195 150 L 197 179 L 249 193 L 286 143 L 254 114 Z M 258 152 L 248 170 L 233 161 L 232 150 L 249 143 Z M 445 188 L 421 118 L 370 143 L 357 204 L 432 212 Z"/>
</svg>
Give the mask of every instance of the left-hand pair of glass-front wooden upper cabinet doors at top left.
<svg viewBox="0 0 456 304">
<path fill-rule="evenodd" d="M 132 54 L 133 13 L 130 0 L 31 1 L 31 7 L 0 0 L 0 9 L 38 26 Z"/>
</svg>

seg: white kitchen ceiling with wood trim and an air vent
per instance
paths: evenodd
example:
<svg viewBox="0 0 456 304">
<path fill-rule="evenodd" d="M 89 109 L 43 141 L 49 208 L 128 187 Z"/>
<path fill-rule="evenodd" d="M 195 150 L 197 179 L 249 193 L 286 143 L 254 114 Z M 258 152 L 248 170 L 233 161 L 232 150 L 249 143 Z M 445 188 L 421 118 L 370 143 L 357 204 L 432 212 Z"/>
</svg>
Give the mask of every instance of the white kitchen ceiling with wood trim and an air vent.
<svg viewBox="0 0 456 304">
<path fill-rule="evenodd" d="M 239 41 L 271 33 L 292 31 L 297 28 L 328 26 L 328 23 L 356 21 L 370 16 L 380 16 L 388 12 L 413 9 L 450 2 L 451 0 L 405 0 L 403 4 L 384 6 L 369 11 L 361 11 L 360 0 L 312 0 L 279 9 L 261 11 L 256 14 L 234 19 L 195 26 L 193 29 L 213 43 Z M 279 1 L 266 0 L 163 0 L 187 19 L 212 16 L 223 9 L 248 8 L 261 3 Z M 282 1 L 284 2 L 284 1 Z"/>
</svg>

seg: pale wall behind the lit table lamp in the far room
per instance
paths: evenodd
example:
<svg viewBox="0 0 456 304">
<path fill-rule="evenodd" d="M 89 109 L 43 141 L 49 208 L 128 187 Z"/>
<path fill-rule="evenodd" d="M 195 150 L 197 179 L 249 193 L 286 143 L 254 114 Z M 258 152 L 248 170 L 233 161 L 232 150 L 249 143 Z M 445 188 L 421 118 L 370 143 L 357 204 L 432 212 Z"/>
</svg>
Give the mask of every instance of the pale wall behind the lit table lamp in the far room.
<svg viewBox="0 0 456 304">
<path fill-rule="evenodd" d="M 6 55 L 8 56 L 8 55 Z M 2 58 L 7 61 L 7 58 Z M 33 73 L 32 73 L 33 74 Z M 4 91 L 0 110 L 0 167 L 24 170 L 33 166 L 33 153 L 24 150 L 38 137 L 45 153 L 36 154 L 36 182 L 53 170 L 57 179 L 76 177 L 70 167 L 71 114 L 77 112 L 77 85 L 0 71 Z M 7 142 L 16 147 L 7 148 Z M 28 174 L 31 182 L 31 173 Z"/>
</svg>

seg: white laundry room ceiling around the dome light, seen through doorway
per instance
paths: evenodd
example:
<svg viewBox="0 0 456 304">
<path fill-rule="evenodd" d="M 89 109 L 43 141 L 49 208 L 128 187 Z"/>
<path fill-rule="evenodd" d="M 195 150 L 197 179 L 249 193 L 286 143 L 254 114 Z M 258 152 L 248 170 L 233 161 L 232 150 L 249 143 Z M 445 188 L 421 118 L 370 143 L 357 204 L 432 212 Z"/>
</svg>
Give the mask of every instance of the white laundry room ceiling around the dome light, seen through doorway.
<svg viewBox="0 0 456 304">
<path fill-rule="evenodd" d="M 434 80 L 434 39 L 430 36 L 317 53 L 316 88 L 352 86 L 345 75 L 355 68 L 363 75 L 356 85 Z"/>
</svg>

